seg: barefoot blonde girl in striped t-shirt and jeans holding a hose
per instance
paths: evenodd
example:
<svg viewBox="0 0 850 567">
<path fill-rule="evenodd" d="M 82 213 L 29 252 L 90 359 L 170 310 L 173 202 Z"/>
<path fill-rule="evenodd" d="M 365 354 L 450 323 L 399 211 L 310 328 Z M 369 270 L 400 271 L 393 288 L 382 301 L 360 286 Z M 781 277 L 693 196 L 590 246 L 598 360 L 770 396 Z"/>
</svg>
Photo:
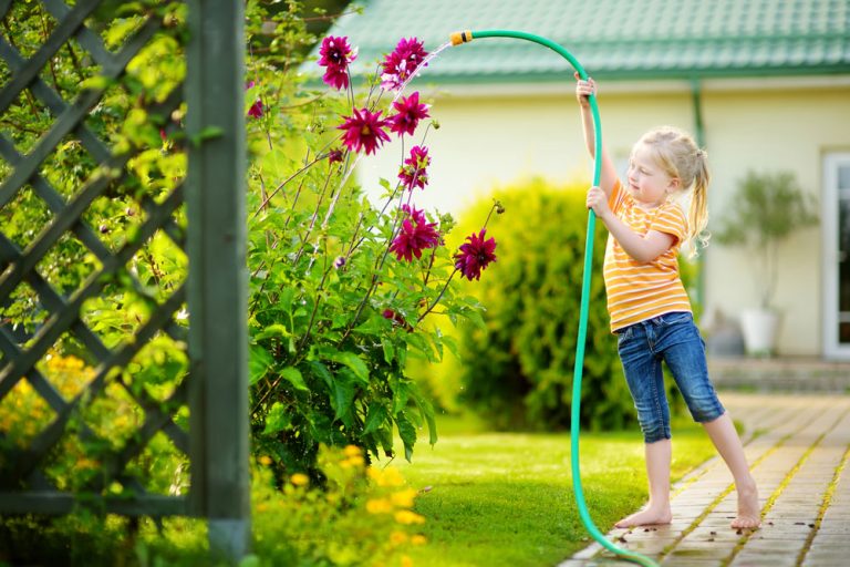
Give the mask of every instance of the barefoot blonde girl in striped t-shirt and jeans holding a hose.
<svg viewBox="0 0 850 567">
<path fill-rule="evenodd" d="M 579 79 L 577 76 L 577 79 Z M 584 141 L 593 156 L 593 120 L 588 96 L 592 79 L 578 81 Z M 705 346 L 694 324 L 678 275 L 677 252 L 699 237 L 707 220 L 706 155 L 686 133 L 672 127 L 652 130 L 632 148 L 625 186 L 607 152 L 598 187 L 588 192 L 592 208 L 611 238 L 604 280 L 611 330 L 645 442 L 650 502 L 621 519 L 616 527 L 668 524 L 671 431 L 662 360 L 667 364 L 693 419 L 701 423 L 729 467 L 738 495 L 733 528 L 760 525 L 758 492 L 729 414 L 708 379 Z M 676 202 L 692 190 L 685 212 Z"/>
</svg>

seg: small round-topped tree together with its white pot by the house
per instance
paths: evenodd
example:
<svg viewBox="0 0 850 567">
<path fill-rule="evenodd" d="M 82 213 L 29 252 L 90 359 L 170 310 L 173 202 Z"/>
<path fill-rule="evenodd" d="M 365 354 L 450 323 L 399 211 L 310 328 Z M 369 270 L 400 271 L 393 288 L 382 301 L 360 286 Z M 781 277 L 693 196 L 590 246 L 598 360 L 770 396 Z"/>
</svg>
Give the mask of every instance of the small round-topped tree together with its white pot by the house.
<svg viewBox="0 0 850 567">
<path fill-rule="evenodd" d="M 774 354 L 779 327 L 779 312 L 773 303 L 779 246 L 792 233 L 817 221 L 812 198 L 804 193 L 792 173 L 748 172 L 738 182 L 732 207 L 723 216 L 715 237 L 722 245 L 744 246 L 754 254 L 759 306 L 745 309 L 740 318 L 748 354 Z"/>
</svg>

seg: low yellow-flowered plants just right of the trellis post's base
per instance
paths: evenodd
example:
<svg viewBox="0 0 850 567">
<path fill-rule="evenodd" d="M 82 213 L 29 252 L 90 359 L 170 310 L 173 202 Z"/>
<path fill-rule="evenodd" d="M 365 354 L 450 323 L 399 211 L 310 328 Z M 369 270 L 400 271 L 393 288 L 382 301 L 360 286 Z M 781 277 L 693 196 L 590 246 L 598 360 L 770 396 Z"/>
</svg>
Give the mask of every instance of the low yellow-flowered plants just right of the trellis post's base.
<svg viewBox="0 0 850 567">
<path fill-rule="evenodd" d="M 253 549 L 260 565 L 412 565 L 405 550 L 424 545 L 417 492 L 397 468 L 366 466 L 360 447 L 322 447 L 323 489 L 296 473 L 283 489 L 260 457 L 252 491 Z"/>
</svg>

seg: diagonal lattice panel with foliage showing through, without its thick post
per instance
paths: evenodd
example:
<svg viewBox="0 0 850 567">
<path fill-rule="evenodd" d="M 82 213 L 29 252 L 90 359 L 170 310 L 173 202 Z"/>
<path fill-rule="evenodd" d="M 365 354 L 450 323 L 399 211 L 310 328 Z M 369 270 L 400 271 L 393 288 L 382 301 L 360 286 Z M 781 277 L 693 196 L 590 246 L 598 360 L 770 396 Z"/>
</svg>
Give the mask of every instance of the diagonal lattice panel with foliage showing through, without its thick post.
<svg viewBox="0 0 850 567">
<path fill-rule="evenodd" d="M 183 513 L 185 7 L 0 16 L 0 508 Z"/>
</svg>

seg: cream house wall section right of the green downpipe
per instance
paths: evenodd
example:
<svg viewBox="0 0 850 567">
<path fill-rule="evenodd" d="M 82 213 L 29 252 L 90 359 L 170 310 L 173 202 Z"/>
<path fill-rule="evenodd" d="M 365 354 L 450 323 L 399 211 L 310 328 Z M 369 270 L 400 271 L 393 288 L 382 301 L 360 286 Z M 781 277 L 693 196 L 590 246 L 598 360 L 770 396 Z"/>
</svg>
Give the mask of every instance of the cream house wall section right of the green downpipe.
<svg viewBox="0 0 850 567">
<path fill-rule="evenodd" d="M 718 92 L 705 96 L 707 144 L 715 162 L 716 216 L 732 205 L 729 192 L 748 168 L 786 169 L 820 198 L 822 157 L 850 151 L 850 90 Z M 822 238 L 820 226 L 792 235 L 780 250 L 774 303 L 782 313 L 778 349 L 787 355 L 822 352 Z M 713 247 L 706 256 L 706 299 L 726 313 L 757 301 L 740 249 Z M 730 278 L 730 275 L 735 275 Z"/>
</svg>

